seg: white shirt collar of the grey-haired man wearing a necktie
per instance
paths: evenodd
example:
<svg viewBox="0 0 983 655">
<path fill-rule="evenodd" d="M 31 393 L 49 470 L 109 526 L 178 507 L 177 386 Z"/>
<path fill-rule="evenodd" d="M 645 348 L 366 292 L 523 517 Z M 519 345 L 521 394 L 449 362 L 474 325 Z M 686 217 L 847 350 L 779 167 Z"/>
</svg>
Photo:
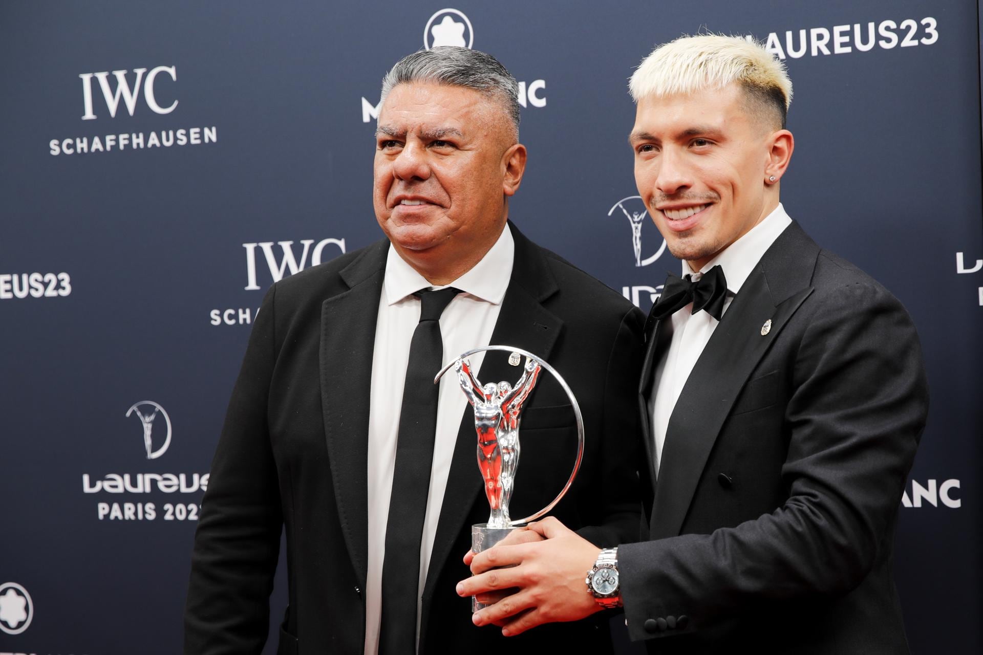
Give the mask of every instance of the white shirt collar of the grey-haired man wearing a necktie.
<svg viewBox="0 0 983 655">
<path fill-rule="evenodd" d="M 456 287 L 465 294 L 500 304 L 505 298 L 508 281 L 512 277 L 512 262 L 515 260 L 515 242 L 512 231 L 506 226 L 495 241 L 494 246 L 475 264 L 471 270 L 457 278 L 446 287 Z M 416 269 L 406 263 L 389 245 L 385 259 L 385 280 L 383 281 L 387 304 L 395 304 L 407 296 L 428 289 L 433 285 Z M 443 289 L 443 287 L 436 287 Z"/>
</svg>

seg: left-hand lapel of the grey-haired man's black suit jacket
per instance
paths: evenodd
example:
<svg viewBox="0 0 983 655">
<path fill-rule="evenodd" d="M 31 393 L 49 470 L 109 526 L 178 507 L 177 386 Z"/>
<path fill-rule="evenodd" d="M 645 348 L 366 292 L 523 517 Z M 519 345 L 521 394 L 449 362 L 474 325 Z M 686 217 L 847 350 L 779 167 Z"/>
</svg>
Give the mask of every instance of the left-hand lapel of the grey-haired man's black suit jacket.
<svg viewBox="0 0 983 655">
<path fill-rule="evenodd" d="M 345 544 L 363 587 L 368 566 L 368 401 L 387 246 L 370 246 L 340 272 L 349 290 L 324 300 L 320 314 L 320 403 L 328 462 Z"/>
</svg>

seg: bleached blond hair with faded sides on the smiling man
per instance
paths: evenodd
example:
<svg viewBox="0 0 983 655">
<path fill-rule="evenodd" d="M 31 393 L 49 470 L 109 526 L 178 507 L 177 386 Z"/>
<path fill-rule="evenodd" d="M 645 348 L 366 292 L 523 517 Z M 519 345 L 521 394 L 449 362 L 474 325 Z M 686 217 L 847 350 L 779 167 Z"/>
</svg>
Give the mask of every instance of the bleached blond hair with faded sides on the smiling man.
<svg viewBox="0 0 983 655">
<path fill-rule="evenodd" d="M 688 95 L 737 82 L 754 108 L 781 128 L 792 102 L 784 64 L 758 41 L 743 36 L 680 36 L 658 46 L 631 76 L 635 102 L 647 96 Z M 756 107 L 754 107 L 756 105 Z M 774 117 L 774 118 L 773 118 Z"/>
</svg>

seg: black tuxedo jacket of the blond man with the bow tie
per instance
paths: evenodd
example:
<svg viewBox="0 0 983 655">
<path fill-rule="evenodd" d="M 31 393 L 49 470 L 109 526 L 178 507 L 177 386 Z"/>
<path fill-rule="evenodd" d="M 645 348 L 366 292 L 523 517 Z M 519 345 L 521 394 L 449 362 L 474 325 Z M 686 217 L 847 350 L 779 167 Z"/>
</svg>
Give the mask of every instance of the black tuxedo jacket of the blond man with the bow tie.
<svg viewBox="0 0 983 655">
<path fill-rule="evenodd" d="M 648 323 L 646 431 L 667 346 Z M 652 653 L 906 653 L 893 541 L 927 410 L 904 308 L 789 225 L 672 411 L 648 540 L 618 549 L 631 637 Z"/>
</svg>

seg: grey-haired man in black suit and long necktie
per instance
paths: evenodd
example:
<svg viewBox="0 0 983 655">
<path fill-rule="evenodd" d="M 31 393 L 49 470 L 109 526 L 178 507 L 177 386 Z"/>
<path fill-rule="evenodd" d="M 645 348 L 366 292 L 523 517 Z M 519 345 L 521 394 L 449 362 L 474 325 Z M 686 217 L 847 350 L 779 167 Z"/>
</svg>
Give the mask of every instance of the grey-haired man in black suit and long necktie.
<svg viewBox="0 0 983 655">
<path fill-rule="evenodd" d="M 598 546 L 637 533 L 644 316 L 507 221 L 526 166 L 516 97 L 497 61 L 466 48 L 414 53 L 385 76 L 374 202 L 386 239 L 263 300 L 202 504 L 186 653 L 260 652 L 284 526 L 279 653 L 500 652 L 498 630 L 475 628 L 454 592 L 470 526 L 490 512 L 475 419 L 452 375 L 433 384 L 444 361 L 490 343 L 548 360 L 581 404 L 591 439 L 556 516 Z M 482 359 L 471 365 L 484 382 L 522 373 Z M 517 518 L 547 505 L 573 464 L 554 380 L 532 392 L 522 438 Z M 598 619 L 512 652 L 604 652 Z"/>
</svg>

